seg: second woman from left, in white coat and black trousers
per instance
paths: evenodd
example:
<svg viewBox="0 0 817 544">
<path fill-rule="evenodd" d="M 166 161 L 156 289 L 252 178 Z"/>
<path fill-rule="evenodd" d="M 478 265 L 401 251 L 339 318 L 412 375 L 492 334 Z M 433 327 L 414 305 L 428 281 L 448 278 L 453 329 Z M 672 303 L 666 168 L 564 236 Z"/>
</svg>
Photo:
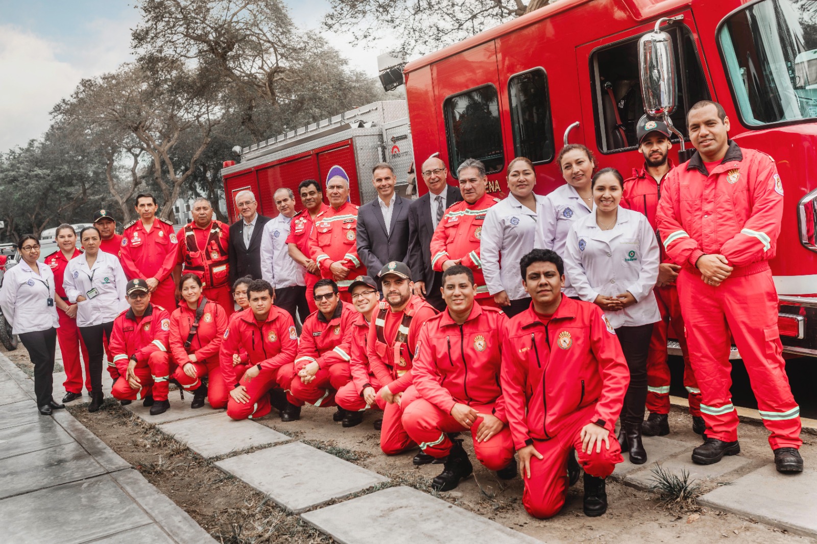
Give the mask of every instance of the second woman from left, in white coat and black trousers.
<svg viewBox="0 0 817 544">
<path fill-rule="evenodd" d="M 127 310 L 127 278 L 119 259 L 100 252 L 100 232 L 85 227 L 79 233 L 85 254 L 72 259 L 65 269 L 63 287 L 69 302 L 77 305 L 77 327 L 88 350 L 91 374 L 91 404 L 96 412 L 105 400 L 102 390 L 102 357 L 110 341 L 116 316 Z"/>
</svg>

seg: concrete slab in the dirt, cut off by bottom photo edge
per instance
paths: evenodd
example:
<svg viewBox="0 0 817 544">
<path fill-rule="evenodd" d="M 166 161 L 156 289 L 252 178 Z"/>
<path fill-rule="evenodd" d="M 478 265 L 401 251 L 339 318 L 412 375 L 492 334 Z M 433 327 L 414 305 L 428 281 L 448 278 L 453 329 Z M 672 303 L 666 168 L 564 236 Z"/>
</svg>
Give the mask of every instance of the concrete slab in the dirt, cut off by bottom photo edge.
<svg viewBox="0 0 817 544">
<path fill-rule="evenodd" d="M 301 518 L 342 544 L 540 542 L 427 493 L 402 486 L 307 512 Z"/>
</svg>

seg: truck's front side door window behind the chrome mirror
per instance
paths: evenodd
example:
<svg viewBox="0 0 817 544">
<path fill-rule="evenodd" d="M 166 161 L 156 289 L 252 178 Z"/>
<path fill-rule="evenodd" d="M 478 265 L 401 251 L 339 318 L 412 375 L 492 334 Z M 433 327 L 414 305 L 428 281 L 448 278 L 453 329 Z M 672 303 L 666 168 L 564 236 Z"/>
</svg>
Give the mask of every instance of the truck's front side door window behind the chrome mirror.
<svg viewBox="0 0 817 544">
<path fill-rule="evenodd" d="M 678 82 L 676 109 L 670 118 L 678 131 L 685 134 L 687 110 L 699 100 L 709 100 L 709 89 L 690 30 L 684 25 L 663 30 L 672 36 Z M 596 140 L 599 149 L 606 153 L 638 146 L 636 124 L 644 114 L 638 79 L 638 38 L 641 36 L 595 51 L 590 60 L 596 95 L 593 102 Z"/>
</svg>

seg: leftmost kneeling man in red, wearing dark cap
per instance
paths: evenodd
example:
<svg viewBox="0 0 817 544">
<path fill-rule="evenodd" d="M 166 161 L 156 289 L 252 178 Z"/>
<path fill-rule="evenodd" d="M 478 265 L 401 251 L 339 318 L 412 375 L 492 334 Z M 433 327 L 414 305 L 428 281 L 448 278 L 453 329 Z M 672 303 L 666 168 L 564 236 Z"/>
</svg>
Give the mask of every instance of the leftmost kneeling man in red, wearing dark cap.
<svg viewBox="0 0 817 544">
<path fill-rule="evenodd" d="M 109 350 L 119 378 L 111 394 L 122 404 L 145 399 L 150 415 L 170 408 L 167 380 L 170 378 L 170 314 L 150 303 L 150 288 L 144 279 L 132 279 L 125 287 L 129 310 L 114 319 Z"/>
</svg>

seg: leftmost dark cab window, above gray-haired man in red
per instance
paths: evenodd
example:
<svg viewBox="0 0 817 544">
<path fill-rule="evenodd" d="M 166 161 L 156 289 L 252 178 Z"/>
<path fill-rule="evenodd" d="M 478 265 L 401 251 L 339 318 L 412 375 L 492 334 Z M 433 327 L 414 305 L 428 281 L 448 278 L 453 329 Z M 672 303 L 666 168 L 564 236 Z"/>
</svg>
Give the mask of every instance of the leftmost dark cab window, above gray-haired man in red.
<svg viewBox="0 0 817 544">
<path fill-rule="evenodd" d="M 467 158 L 476 158 L 489 173 L 505 164 L 499 124 L 497 88 L 484 85 L 449 96 L 443 104 L 452 172 Z"/>
</svg>

